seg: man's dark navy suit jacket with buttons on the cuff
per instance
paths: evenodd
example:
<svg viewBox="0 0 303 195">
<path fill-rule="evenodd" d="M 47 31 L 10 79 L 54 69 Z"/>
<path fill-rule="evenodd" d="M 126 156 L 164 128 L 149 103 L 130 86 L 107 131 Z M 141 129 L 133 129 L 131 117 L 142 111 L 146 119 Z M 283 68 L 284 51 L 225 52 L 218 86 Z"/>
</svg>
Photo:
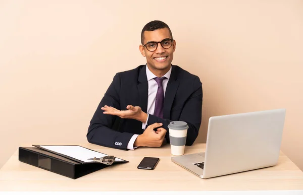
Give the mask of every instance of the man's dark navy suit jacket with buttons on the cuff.
<svg viewBox="0 0 303 195">
<path fill-rule="evenodd" d="M 127 105 L 140 106 L 146 113 L 148 81 L 146 65 L 136 69 L 117 73 L 105 96 L 99 103 L 88 127 L 86 135 L 89 143 L 126 150 L 134 134 L 142 134 L 142 122 L 103 114 L 101 107 L 108 105 L 119 110 L 126 110 Z M 172 72 L 167 84 L 163 117 L 149 114 L 147 125 L 162 122 L 169 143 L 168 124 L 170 121 L 187 122 L 186 145 L 192 145 L 198 136 L 201 124 L 202 84 L 199 78 L 178 66 L 172 65 Z M 147 127 L 147 126 L 146 126 Z"/>
</svg>

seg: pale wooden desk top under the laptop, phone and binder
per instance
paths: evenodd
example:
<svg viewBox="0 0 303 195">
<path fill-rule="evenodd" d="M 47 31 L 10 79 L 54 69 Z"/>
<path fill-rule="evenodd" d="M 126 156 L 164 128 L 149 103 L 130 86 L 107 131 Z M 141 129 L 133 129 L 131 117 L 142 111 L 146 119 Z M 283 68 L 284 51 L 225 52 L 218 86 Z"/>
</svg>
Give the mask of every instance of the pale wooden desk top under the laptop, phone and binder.
<svg viewBox="0 0 303 195">
<path fill-rule="evenodd" d="M 169 145 L 122 151 L 88 143 L 76 144 L 115 155 L 129 163 L 107 167 L 74 180 L 20 162 L 17 150 L 0 170 L 0 191 L 303 190 L 303 172 L 282 152 L 276 166 L 201 179 L 171 162 Z M 205 149 L 205 144 L 195 144 L 186 147 L 185 154 Z M 155 170 L 137 169 L 145 156 L 160 158 Z"/>
</svg>

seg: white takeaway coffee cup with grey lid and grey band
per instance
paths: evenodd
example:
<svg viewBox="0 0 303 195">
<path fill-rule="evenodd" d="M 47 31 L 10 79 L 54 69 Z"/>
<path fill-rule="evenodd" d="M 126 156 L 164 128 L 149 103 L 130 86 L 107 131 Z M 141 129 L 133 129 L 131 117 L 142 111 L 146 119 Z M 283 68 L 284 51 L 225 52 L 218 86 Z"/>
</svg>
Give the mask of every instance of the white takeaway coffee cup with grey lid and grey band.
<svg viewBox="0 0 303 195">
<path fill-rule="evenodd" d="M 175 156 L 184 154 L 188 125 L 183 121 L 171 121 L 168 125 L 171 153 Z"/>
</svg>

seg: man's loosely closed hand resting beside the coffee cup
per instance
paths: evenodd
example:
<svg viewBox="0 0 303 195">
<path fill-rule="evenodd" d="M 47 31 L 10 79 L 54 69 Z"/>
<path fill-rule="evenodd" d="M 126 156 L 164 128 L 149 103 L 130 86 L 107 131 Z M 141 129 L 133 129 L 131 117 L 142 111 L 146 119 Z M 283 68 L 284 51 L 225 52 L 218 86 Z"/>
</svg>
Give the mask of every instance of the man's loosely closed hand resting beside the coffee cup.
<svg viewBox="0 0 303 195">
<path fill-rule="evenodd" d="M 143 134 L 137 137 L 134 146 L 160 147 L 167 132 L 165 128 L 160 126 L 162 126 L 162 123 L 157 122 L 147 126 Z M 157 128 L 156 132 L 154 131 L 154 128 Z"/>
</svg>

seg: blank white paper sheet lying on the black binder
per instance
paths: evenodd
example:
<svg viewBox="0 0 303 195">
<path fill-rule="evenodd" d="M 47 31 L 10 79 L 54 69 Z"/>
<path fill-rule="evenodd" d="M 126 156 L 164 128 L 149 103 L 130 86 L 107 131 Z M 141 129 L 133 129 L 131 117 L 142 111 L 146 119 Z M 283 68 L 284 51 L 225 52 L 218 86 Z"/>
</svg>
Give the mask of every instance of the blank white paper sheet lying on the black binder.
<svg viewBox="0 0 303 195">
<path fill-rule="evenodd" d="M 93 160 L 87 160 L 89 158 L 101 158 L 108 156 L 106 154 L 89 150 L 82 146 L 42 146 L 40 147 L 45 148 L 46 150 L 51 150 L 66 156 L 70 156 L 72 158 L 81 160 L 83 162 L 94 162 Z M 123 161 L 120 158 L 116 158 L 115 161 Z"/>
</svg>

